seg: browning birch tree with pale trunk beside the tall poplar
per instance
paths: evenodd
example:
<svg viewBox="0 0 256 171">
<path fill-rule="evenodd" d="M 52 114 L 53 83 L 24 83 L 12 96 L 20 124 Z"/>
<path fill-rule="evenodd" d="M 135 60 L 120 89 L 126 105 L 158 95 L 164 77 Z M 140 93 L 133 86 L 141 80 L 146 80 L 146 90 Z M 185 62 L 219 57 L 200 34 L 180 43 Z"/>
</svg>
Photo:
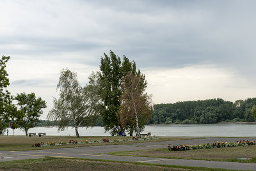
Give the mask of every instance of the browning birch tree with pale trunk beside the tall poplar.
<svg viewBox="0 0 256 171">
<path fill-rule="evenodd" d="M 118 120 L 123 127 L 135 128 L 136 137 L 139 137 L 152 114 L 151 96 L 145 93 L 147 87 L 145 76 L 129 72 L 122 79 L 121 87 L 122 96 L 117 112 Z"/>
</svg>

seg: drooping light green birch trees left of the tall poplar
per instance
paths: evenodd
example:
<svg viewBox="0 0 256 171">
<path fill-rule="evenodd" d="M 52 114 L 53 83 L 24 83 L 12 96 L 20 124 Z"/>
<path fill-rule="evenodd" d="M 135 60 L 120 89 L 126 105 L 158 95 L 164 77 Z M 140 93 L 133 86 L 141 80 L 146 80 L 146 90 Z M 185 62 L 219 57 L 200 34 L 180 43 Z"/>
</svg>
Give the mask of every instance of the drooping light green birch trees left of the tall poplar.
<svg viewBox="0 0 256 171">
<path fill-rule="evenodd" d="M 59 130 L 64 130 L 71 123 L 75 128 L 76 137 L 79 137 L 79 126 L 93 127 L 99 117 L 99 88 L 95 74 L 92 74 L 89 80 L 89 85 L 81 87 L 76 73 L 68 69 L 62 70 L 57 85 L 60 98 L 54 98 L 54 107 L 47 116 L 50 120 L 59 120 Z"/>
</svg>

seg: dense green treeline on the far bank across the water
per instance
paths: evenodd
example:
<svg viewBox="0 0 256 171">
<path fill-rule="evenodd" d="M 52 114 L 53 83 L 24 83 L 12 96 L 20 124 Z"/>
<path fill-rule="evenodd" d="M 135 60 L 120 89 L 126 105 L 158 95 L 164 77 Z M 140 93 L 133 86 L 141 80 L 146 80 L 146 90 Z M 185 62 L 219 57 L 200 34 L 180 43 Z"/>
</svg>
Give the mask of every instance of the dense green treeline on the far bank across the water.
<svg viewBox="0 0 256 171">
<path fill-rule="evenodd" d="M 211 124 L 254 122 L 252 107 L 256 98 L 225 101 L 221 98 L 211 100 L 183 101 L 154 105 L 150 124 Z"/>
</svg>

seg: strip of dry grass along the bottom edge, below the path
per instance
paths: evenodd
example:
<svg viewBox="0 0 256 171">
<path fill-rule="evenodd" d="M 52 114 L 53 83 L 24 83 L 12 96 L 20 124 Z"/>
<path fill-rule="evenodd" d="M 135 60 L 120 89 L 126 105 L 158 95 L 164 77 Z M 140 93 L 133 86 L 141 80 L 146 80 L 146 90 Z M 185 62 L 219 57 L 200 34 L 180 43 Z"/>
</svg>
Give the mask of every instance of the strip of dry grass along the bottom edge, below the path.
<svg viewBox="0 0 256 171">
<path fill-rule="evenodd" d="M 44 158 L 1 161 L 0 170 L 227 170 L 202 167 L 180 167 L 104 160 Z"/>
</svg>

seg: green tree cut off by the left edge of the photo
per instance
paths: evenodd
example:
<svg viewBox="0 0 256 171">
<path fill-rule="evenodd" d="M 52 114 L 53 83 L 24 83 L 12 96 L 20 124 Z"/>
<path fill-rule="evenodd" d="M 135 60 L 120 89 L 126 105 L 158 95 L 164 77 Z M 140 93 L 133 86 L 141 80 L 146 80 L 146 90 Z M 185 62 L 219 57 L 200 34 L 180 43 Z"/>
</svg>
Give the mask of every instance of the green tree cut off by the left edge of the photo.
<svg viewBox="0 0 256 171">
<path fill-rule="evenodd" d="M 8 123 L 10 122 L 10 115 L 12 114 L 12 100 L 13 97 L 8 92 L 9 78 L 6 71 L 6 63 L 9 61 L 10 56 L 3 56 L 0 59 L 0 135 L 3 135 Z"/>
</svg>

